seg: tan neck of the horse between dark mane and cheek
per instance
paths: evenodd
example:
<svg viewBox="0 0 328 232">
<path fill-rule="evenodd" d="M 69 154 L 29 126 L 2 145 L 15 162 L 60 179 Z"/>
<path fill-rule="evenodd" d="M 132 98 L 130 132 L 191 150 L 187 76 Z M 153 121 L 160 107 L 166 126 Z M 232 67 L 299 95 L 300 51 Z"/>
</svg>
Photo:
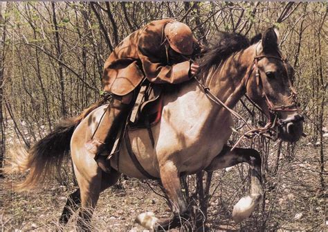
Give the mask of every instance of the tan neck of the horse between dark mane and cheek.
<svg viewBox="0 0 328 232">
<path fill-rule="evenodd" d="M 245 80 L 253 63 L 254 46 L 228 57 L 217 68 L 212 68 L 206 77 L 206 86 L 230 108 L 246 91 Z"/>
</svg>

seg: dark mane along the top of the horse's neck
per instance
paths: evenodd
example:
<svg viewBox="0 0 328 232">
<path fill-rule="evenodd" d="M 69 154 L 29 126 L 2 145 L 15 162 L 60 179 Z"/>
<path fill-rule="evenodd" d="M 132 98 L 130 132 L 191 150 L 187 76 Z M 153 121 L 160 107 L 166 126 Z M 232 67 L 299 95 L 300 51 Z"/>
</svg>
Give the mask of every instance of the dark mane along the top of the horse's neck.
<svg viewBox="0 0 328 232">
<path fill-rule="evenodd" d="M 199 59 L 199 74 L 208 73 L 212 66 L 218 66 L 224 62 L 230 55 L 248 48 L 261 39 L 261 35 L 255 35 L 250 41 L 246 36 L 239 33 L 219 32 L 216 42 L 211 43 L 205 51 L 202 52 Z"/>
</svg>

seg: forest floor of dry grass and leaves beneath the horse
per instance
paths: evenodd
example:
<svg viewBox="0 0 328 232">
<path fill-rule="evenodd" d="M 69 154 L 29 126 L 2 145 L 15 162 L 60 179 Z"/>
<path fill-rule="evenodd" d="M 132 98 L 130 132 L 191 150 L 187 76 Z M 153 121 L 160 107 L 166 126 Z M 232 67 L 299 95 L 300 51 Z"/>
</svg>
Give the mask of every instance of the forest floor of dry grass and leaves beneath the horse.
<svg viewBox="0 0 328 232">
<path fill-rule="evenodd" d="M 214 172 L 206 230 L 328 231 L 328 195 L 327 189 L 320 191 L 319 147 L 303 141 L 296 148 L 294 157 L 280 157 L 275 175 L 266 172 L 265 198 L 241 224 L 236 225 L 231 214 L 233 205 L 248 191 L 248 166 L 242 164 Z M 275 155 L 269 157 L 269 170 L 274 160 Z M 325 167 L 327 185 L 327 161 Z M 54 181 L 24 193 L 5 188 L 22 178 L 23 175 L 11 175 L 0 179 L 2 231 L 74 231 L 75 215 L 64 228 L 57 222 L 67 196 L 76 189 L 71 177 L 66 179 L 69 184 Z M 170 215 L 165 199 L 156 195 L 145 181 L 122 178 L 120 184 L 100 195 L 91 224 L 94 231 L 144 231 L 134 220 L 145 211 L 158 217 Z"/>
</svg>

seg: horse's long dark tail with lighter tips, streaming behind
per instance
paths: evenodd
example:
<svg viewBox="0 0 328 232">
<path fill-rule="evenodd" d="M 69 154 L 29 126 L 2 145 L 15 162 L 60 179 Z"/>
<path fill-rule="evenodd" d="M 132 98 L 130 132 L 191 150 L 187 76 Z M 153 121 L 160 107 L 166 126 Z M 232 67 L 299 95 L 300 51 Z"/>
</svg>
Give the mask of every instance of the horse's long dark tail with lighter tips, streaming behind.
<svg viewBox="0 0 328 232">
<path fill-rule="evenodd" d="M 84 109 L 80 116 L 62 121 L 52 132 L 30 148 L 26 158 L 16 161 L 17 170 L 29 170 L 29 173 L 23 182 L 15 186 L 15 190 L 28 190 L 44 182 L 47 177 L 54 177 L 60 173 L 62 161 L 69 154 L 71 137 L 75 127 L 91 111 L 103 104 L 104 100 L 96 102 L 91 107 Z"/>
</svg>

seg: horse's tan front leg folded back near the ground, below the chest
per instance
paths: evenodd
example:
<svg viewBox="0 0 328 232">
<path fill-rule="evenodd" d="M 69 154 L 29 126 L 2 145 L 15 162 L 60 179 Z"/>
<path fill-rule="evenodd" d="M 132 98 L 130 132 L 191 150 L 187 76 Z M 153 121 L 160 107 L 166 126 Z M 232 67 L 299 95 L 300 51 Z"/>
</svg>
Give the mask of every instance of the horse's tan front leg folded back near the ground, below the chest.
<svg viewBox="0 0 328 232">
<path fill-rule="evenodd" d="M 172 206 L 173 217 L 169 219 L 157 220 L 152 213 L 142 213 L 138 216 L 137 222 L 147 229 L 156 231 L 167 230 L 176 226 L 181 226 L 182 220 L 188 218 L 187 204 L 181 190 L 179 171 L 172 161 L 167 161 L 160 166 L 161 181 L 163 188 Z"/>
</svg>

